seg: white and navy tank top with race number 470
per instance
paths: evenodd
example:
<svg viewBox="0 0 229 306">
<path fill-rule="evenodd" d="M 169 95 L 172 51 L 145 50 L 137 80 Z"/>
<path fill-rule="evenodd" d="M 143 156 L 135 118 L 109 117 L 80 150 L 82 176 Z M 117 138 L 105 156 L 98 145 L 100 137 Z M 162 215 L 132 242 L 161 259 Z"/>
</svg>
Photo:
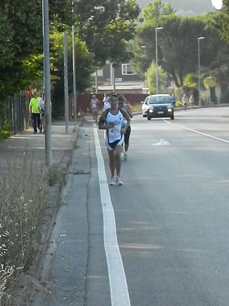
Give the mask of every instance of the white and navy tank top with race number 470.
<svg viewBox="0 0 229 306">
<path fill-rule="evenodd" d="M 107 130 L 106 138 L 108 140 L 108 143 L 113 143 L 115 140 L 121 140 L 123 135 L 120 133 L 122 128 L 122 120 L 123 115 L 120 110 L 118 110 L 116 115 L 113 115 L 110 111 L 108 111 L 107 117 L 106 117 L 106 124 L 112 124 L 112 122 L 117 121 L 117 124 L 113 127 Z"/>
</svg>

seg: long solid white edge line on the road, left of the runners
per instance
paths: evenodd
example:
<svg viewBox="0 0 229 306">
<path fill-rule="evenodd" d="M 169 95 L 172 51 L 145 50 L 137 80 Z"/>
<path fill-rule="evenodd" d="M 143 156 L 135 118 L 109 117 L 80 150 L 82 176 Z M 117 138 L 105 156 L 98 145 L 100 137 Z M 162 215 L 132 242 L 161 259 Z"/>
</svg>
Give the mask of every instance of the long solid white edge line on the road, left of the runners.
<svg viewBox="0 0 229 306">
<path fill-rule="evenodd" d="M 112 306 L 130 306 L 130 296 L 117 241 L 115 215 L 107 183 L 104 159 L 103 155 L 101 154 L 97 129 L 95 127 L 93 129 L 95 138 L 95 153 L 98 163 L 100 197 L 104 216 L 104 247 L 107 257 L 111 304 Z M 114 186 L 114 188 L 115 187 L 116 186 Z"/>
</svg>

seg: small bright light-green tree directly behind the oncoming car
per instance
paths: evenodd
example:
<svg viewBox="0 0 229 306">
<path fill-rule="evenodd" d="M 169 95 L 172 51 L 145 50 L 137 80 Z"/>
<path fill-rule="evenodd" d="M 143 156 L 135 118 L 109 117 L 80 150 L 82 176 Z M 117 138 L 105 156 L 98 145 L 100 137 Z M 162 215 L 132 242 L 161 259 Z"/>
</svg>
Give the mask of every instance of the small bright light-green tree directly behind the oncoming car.
<svg viewBox="0 0 229 306">
<path fill-rule="evenodd" d="M 152 61 L 150 67 L 145 73 L 146 83 L 150 92 L 157 91 L 157 82 L 156 82 L 156 63 Z M 158 66 L 158 91 L 164 92 L 165 82 L 167 75 L 163 72 L 161 66 Z"/>
</svg>

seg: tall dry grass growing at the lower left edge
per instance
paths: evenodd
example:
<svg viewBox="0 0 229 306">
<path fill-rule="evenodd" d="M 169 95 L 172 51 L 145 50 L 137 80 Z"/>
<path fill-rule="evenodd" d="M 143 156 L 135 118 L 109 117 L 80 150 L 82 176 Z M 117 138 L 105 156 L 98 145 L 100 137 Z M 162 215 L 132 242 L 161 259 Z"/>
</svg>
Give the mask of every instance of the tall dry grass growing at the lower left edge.
<svg viewBox="0 0 229 306">
<path fill-rule="evenodd" d="M 44 165 L 24 150 L 0 175 L 0 304 L 10 305 L 39 248 L 46 210 Z"/>
</svg>

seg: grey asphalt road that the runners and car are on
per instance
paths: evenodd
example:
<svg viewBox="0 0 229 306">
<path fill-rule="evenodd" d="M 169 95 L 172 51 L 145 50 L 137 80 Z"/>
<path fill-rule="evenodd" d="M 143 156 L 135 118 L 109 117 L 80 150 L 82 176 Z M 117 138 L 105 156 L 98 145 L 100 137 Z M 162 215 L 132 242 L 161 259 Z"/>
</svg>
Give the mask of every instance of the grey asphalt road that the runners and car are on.
<svg viewBox="0 0 229 306">
<path fill-rule="evenodd" d="M 109 189 L 103 131 L 84 123 L 81 141 L 88 149 L 73 163 L 90 165 L 90 174 L 75 176 L 81 193 L 87 187 L 87 212 L 84 205 L 71 210 L 68 220 L 84 209 L 81 225 L 67 225 L 69 232 L 82 230 L 83 220 L 87 225 L 84 251 L 77 256 L 83 268 L 74 268 L 82 278 L 62 281 L 70 294 L 62 285 L 53 290 L 55 302 L 35 305 L 228 306 L 229 108 L 181 110 L 174 116 L 173 121 L 134 116 L 129 157 L 121 168 L 124 184 Z M 77 202 L 79 191 L 72 185 L 69 194 Z M 61 254 L 73 258 L 77 250 L 76 245 Z M 55 276 L 55 269 L 48 273 L 53 262 L 48 267 L 49 281 L 66 277 Z M 74 294 L 78 288 L 82 303 Z"/>
</svg>

